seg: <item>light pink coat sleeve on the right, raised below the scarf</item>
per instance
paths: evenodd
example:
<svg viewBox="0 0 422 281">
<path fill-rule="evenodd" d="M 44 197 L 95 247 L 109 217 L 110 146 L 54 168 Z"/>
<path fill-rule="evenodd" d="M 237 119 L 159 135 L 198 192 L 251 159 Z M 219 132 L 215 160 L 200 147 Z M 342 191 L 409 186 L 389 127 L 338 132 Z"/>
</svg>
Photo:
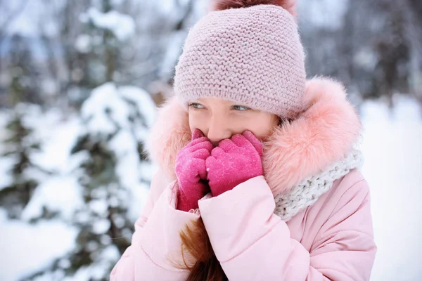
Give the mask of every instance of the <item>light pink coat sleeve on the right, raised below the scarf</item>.
<svg viewBox="0 0 422 281">
<path fill-rule="evenodd" d="M 290 238 L 274 207 L 263 176 L 199 202 L 212 248 L 229 280 L 369 280 L 376 246 L 366 181 L 341 197 L 310 252 Z"/>
</svg>

